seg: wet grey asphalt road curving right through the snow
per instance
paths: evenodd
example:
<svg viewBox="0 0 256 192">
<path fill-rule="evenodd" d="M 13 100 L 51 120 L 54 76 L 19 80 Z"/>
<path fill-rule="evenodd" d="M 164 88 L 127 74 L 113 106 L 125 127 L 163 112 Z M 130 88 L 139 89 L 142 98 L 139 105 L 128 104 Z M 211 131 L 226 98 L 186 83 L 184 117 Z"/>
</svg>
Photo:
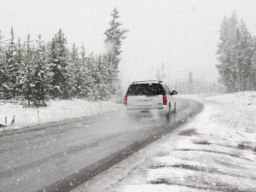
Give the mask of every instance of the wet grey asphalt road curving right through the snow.
<svg viewBox="0 0 256 192">
<path fill-rule="evenodd" d="M 69 191 L 189 117 L 202 105 L 177 100 L 177 113 L 125 109 L 0 135 L 0 191 Z"/>
</svg>

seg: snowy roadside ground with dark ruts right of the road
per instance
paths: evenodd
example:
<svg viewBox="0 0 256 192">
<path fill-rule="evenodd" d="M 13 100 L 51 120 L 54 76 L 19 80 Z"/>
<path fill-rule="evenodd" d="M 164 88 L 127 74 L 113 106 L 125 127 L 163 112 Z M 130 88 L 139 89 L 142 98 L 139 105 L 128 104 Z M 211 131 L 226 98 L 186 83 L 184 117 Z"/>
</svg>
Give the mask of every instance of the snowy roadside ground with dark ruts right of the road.
<svg viewBox="0 0 256 192">
<path fill-rule="evenodd" d="M 256 92 L 180 97 L 203 112 L 73 191 L 256 191 Z"/>
</svg>

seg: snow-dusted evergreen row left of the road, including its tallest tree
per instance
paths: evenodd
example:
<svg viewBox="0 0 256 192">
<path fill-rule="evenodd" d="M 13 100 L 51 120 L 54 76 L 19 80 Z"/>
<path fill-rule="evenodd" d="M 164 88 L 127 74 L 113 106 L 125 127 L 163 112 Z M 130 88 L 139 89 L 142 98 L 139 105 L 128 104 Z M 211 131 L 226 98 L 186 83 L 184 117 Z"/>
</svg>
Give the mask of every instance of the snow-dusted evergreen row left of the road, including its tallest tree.
<svg viewBox="0 0 256 192">
<path fill-rule="evenodd" d="M 119 12 L 113 9 L 105 44 L 106 54 L 87 54 L 84 45 L 68 49 L 67 38 L 59 30 L 45 42 L 41 35 L 15 42 L 13 28 L 9 40 L 0 32 L 0 99 L 26 100 L 27 105 L 45 106 L 49 98 L 108 100 L 119 94 L 121 42 L 127 30 L 120 29 Z"/>
</svg>

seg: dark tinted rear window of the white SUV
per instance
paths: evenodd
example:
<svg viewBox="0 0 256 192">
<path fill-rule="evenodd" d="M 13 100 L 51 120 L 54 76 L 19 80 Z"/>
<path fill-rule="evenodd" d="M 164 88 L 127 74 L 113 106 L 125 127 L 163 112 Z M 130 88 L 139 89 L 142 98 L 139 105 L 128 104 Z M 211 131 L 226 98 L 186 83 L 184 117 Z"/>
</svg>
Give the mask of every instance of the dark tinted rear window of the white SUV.
<svg viewBox="0 0 256 192">
<path fill-rule="evenodd" d="M 164 94 L 165 91 L 161 84 L 131 84 L 126 96 L 155 96 Z"/>
</svg>

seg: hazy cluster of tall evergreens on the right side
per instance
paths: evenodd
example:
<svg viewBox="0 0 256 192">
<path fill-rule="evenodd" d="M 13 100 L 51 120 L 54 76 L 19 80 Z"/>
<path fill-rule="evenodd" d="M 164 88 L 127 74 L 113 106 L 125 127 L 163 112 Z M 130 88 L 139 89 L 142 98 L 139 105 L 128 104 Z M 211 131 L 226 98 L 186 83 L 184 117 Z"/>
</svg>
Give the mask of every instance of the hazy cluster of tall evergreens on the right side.
<svg viewBox="0 0 256 192">
<path fill-rule="evenodd" d="M 235 12 L 221 23 L 217 55 L 219 81 L 227 92 L 256 90 L 256 38 Z"/>
</svg>

